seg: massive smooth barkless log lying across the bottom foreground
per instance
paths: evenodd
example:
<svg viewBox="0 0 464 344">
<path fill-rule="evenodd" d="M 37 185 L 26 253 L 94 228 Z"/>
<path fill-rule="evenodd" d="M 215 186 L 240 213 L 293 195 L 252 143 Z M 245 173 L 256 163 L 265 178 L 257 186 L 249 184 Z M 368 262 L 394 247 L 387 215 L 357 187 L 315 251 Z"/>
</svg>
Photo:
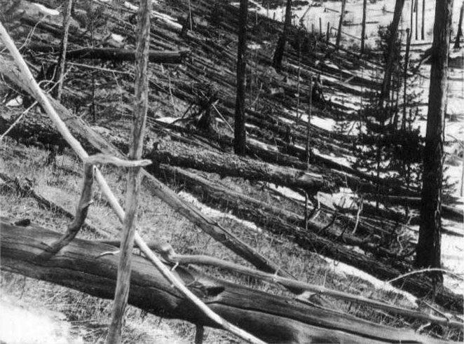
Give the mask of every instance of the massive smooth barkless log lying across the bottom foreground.
<svg viewBox="0 0 464 344">
<path fill-rule="evenodd" d="M 34 223 L 15 226 L 1 218 L 1 267 L 14 273 L 113 298 L 118 256 L 114 247 L 75 239 L 46 262 L 40 255 L 60 233 Z M 446 343 L 413 331 L 373 324 L 340 312 L 302 305 L 177 267 L 177 276 L 214 312 L 270 343 Z M 214 326 L 142 256 L 132 261 L 129 303 L 161 317 Z"/>
</svg>

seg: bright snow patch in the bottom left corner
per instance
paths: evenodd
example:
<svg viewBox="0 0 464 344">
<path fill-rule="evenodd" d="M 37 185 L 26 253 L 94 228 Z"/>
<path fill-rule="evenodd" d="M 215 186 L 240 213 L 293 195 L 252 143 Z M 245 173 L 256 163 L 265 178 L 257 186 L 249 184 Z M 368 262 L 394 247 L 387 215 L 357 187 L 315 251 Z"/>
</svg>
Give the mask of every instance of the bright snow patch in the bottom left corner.
<svg viewBox="0 0 464 344">
<path fill-rule="evenodd" d="M 0 342 L 8 344 L 83 344 L 71 335 L 71 325 L 60 312 L 29 308 L 0 291 Z"/>
</svg>

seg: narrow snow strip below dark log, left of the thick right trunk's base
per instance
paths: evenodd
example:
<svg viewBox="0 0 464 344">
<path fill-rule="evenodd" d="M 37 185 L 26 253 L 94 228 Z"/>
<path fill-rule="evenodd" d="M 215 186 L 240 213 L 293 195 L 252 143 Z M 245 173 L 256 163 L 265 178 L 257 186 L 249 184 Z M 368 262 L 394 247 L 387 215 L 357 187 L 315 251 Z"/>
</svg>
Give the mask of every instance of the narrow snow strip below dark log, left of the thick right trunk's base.
<svg viewBox="0 0 464 344">
<path fill-rule="evenodd" d="M 329 263 L 329 267 L 334 270 L 335 273 L 337 274 L 345 274 L 345 275 L 351 275 L 355 277 L 359 277 L 364 281 L 367 281 L 371 283 L 375 289 L 383 290 L 383 291 L 393 291 L 397 294 L 400 294 L 404 296 L 404 298 L 411 303 L 411 306 L 414 308 L 416 307 L 416 296 L 409 294 L 406 291 L 402 291 L 401 289 L 398 289 L 396 287 L 393 287 L 392 284 L 383 282 L 381 280 L 378 280 L 378 278 L 369 275 L 368 273 L 364 273 L 364 271 L 361 271 L 357 268 L 353 268 L 353 266 L 349 266 L 345 263 L 341 263 L 339 261 L 334 261 L 333 259 L 329 259 L 325 256 L 320 256 L 322 259 L 327 261 Z"/>
</svg>

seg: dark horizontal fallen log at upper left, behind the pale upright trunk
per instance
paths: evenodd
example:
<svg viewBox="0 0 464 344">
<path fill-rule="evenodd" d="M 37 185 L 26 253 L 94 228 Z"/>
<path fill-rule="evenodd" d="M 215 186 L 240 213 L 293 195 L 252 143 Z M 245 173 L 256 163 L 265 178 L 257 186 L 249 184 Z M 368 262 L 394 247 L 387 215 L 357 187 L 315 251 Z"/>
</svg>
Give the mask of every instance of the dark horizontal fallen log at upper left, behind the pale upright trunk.
<svg viewBox="0 0 464 344">
<path fill-rule="evenodd" d="M 27 46 L 29 50 L 41 53 L 59 53 L 59 47 L 43 44 L 31 44 Z M 189 54 L 189 50 L 182 51 L 153 51 L 149 53 L 149 62 L 152 63 L 182 63 L 184 57 Z M 72 59 L 94 59 L 110 61 L 135 61 L 135 50 L 116 49 L 116 48 L 81 48 L 66 52 L 66 58 Z"/>
</svg>

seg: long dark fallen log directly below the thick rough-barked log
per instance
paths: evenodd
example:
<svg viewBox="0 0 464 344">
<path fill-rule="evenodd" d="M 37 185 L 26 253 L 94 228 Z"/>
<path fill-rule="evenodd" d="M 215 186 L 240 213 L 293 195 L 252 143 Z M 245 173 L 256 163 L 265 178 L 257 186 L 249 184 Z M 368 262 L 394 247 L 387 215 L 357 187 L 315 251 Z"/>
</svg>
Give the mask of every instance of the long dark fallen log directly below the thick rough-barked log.
<svg viewBox="0 0 464 344">
<path fill-rule="evenodd" d="M 206 202 L 212 207 L 222 207 L 222 209 L 231 210 L 233 214 L 240 217 L 240 219 L 246 219 L 257 223 L 258 226 L 266 228 L 268 231 L 277 235 L 285 235 L 285 238 L 292 240 L 304 249 L 308 249 L 311 252 L 314 250 L 318 254 L 322 254 L 332 259 L 342 261 L 350 266 L 365 271 L 381 280 L 390 280 L 402 273 L 407 272 L 407 266 L 402 266 L 400 259 L 396 260 L 395 267 L 386 265 L 378 259 L 373 259 L 367 254 L 360 254 L 352 249 L 348 249 L 343 245 L 336 245 L 334 242 L 327 238 L 322 238 L 320 235 L 313 233 L 312 231 L 305 231 L 295 223 L 299 223 L 299 216 L 295 214 L 288 214 L 282 210 L 278 211 L 272 209 L 271 205 L 265 205 L 262 202 L 254 200 L 247 196 L 240 196 L 239 193 L 228 191 L 226 188 L 215 187 L 214 184 L 206 181 L 205 179 L 196 176 L 196 174 L 183 171 L 179 168 L 174 167 L 163 167 L 161 166 L 161 175 L 165 174 L 168 177 L 175 175 L 177 182 L 184 181 L 186 188 L 199 197 L 203 202 Z M 198 188 L 199 187 L 199 188 Z M 276 214 L 273 214 L 276 213 Z M 287 216 L 287 221 L 285 217 Z M 291 222 L 292 221 L 292 222 Z M 313 231 L 321 231 L 324 228 L 330 237 L 330 229 L 320 225 L 317 226 L 315 223 L 310 223 L 313 226 Z M 321 228 L 322 227 L 322 228 Z M 332 238 L 336 238 L 336 233 L 332 232 Z M 367 242 L 362 242 L 359 238 L 353 235 L 347 235 L 348 245 L 359 245 L 364 249 L 369 247 Z M 341 238 L 343 240 L 343 237 Z M 372 250 L 374 247 L 372 247 Z M 388 261 L 388 259 L 386 259 Z M 442 305 L 445 308 L 456 310 L 457 312 L 463 311 L 463 296 L 453 294 L 449 289 L 440 287 L 435 290 L 435 295 L 431 295 L 434 291 L 432 281 L 427 277 L 417 277 L 411 275 L 405 277 L 402 280 L 393 282 L 397 287 L 407 290 L 418 297 L 431 296 L 434 301 Z"/>
</svg>

